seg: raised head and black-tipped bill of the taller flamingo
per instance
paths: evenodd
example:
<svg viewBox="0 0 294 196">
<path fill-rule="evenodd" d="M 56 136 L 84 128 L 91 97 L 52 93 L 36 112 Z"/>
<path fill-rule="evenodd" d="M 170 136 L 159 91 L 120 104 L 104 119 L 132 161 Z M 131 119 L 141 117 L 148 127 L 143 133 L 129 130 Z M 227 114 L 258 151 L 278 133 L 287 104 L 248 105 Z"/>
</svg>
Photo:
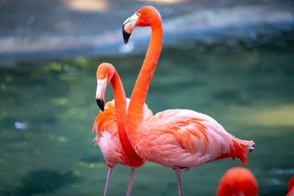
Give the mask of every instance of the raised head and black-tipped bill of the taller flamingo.
<svg viewBox="0 0 294 196">
<path fill-rule="evenodd" d="M 133 16 L 126 19 L 123 23 L 123 41 L 127 44 L 132 31 L 137 26 L 151 26 L 162 24 L 160 13 L 152 6 L 140 8 Z"/>
</svg>

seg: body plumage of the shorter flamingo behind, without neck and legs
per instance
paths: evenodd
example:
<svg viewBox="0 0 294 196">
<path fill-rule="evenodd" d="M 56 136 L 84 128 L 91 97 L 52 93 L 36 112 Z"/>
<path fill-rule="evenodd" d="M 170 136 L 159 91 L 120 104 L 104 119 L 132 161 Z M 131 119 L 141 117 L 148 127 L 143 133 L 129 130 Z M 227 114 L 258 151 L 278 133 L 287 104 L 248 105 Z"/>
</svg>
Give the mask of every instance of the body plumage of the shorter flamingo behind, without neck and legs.
<svg viewBox="0 0 294 196">
<path fill-rule="evenodd" d="M 115 105 L 113 99 L 105 104 L 104 111 L 100 111 L 93 124 L 93 130 L 96 130 L 96 137 L 94 139 L 95 145 L 101 149 L 103 157 L 112 170 L 117 164 L 130 166 L 128 159 L 124 155 L 123 147 L 121 145 L 118 135 L 118 125 L 115 114 Z M 126 98 L 126 109 L 128 108 L 130 99 Z M 144 118 L 151 117 L 152 111 L 144 104 Z"/>
</svg>

